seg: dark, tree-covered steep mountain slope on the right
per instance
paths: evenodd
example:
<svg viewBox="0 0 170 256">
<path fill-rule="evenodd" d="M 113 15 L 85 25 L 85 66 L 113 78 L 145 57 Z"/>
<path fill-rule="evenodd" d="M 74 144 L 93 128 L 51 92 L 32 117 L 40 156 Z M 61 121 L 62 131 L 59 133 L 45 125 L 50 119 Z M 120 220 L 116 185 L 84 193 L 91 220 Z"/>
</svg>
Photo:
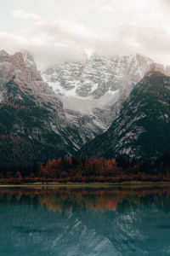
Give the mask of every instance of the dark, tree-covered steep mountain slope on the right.
<svg viewBox="0 0 170 256">
<path fill-rule="evenodd" d="M 124 154 L 136 159 L 170 154 L 170 77 L 156 71 L 147 73 L 110 129 L 78 154 L 107 158 Z"/>
</svg>

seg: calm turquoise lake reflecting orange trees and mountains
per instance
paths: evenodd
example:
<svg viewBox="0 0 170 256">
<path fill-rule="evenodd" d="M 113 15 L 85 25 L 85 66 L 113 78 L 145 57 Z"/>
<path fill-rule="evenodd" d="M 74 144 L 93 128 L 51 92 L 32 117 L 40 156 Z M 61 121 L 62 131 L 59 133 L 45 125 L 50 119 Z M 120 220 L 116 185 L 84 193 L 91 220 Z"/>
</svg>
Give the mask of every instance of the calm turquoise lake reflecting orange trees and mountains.
<svg viewBox="0 0 170 256">
<path fill-rule="evenodd" d="M 1 256 L 170 255 L 170 187 L 0 188 Z"/>
</svg>

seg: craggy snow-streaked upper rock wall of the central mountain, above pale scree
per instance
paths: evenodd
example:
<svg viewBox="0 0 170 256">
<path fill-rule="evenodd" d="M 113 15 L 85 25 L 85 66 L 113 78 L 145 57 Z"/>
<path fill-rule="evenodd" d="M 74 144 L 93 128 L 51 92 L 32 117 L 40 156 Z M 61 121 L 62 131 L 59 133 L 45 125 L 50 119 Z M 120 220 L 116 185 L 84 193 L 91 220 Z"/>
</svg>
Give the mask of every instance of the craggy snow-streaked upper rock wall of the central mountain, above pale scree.
<svg viewBox="0 0 170 256">
<path fill-rule="evenodd" d="M 136 82 L 153 63 L 141 55 L 103 57 L 92 55 L 86 63 L 65 63 L 43 73 L 55 91 L 62 96 L 93 96 L 127 87 L 122 81 Z"/>
</svg>

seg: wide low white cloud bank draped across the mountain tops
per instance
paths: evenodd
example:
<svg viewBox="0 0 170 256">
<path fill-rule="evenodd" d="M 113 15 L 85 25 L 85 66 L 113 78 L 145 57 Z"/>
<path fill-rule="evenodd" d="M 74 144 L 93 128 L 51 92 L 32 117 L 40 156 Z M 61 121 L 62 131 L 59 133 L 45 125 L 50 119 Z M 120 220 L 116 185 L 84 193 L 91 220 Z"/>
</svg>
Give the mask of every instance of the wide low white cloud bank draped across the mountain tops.
<svg viewBox="0 0 170 256">
<path fill-rule="evenodd" d="M 39 21 L 20 33 L 0 33 L 0 49 L 14 52 L 30 49 L 40 69 L 64 61 L 84 61 L 86 53 L 99 55 L 148 55 L 169 63 L 170 30 L 162 26 L 139 26 L 121 23 L 111 35 L 89 31 L 84 26 Z"/>
</svg>

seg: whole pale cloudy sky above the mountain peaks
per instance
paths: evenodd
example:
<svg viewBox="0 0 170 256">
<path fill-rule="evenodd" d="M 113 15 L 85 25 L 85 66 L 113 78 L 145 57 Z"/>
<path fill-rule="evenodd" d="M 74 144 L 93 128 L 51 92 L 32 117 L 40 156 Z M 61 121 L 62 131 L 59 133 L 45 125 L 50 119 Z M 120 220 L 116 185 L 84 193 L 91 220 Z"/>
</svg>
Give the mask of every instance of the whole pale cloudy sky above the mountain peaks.
<svg viewBox="0 0 170 256">
<path fill-rule="evenodd" d="M 2 3 L 1 3 L 2 2 Z M 170 0 L 0 0 L 0 49 L 28 49 L 39 69 L 99 55 L 170 65 Z"/>
</svg>

